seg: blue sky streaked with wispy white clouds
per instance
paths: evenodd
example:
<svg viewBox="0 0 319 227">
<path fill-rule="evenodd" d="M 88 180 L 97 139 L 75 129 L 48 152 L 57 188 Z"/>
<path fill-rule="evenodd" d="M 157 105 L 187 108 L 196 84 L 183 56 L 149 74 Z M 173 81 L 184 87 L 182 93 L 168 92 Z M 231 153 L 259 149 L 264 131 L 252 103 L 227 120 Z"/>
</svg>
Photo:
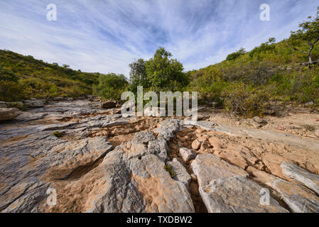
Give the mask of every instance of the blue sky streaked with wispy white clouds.
<svg viewBox="0 0 319 227">
<path fill-rule="evenodd" d="M 47 19 L 48 4 L 57 7 L 56 21 Z M 269 21 L 259 18 L 261 4 L 270 6 Z M 129 76 L 129 63 L 161 46 L 185 71 L 197 70 L 270 37 L 288 38 L 318 6 L 315 0 L 0 0 L 0 49 Z"/>
</svg>

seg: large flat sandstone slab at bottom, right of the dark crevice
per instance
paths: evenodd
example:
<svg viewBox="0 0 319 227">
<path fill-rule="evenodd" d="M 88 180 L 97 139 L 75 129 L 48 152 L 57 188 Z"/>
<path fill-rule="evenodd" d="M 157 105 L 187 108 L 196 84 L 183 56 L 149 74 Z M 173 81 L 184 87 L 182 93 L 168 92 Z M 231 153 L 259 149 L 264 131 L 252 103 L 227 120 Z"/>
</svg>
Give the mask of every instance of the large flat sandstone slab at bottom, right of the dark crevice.
<svg viewBox="0 0 319 227">
<path fill-rule="evenodd" d="M 270 196 L 261 205 L 262 187 L 247 178 L 247 172 L 216 155 L 198 155 L 191 168 L 198 177 L 200 195 L 211 213 L 288 212 Z"/>
</svg>

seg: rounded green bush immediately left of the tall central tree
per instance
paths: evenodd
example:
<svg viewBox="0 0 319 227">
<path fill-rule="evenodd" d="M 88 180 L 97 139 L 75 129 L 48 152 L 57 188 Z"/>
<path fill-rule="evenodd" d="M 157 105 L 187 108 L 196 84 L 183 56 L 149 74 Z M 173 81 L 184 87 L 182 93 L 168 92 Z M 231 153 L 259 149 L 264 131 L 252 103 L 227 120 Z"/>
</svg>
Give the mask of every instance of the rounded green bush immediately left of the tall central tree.
<svg viewBox="0 0 319 227">
<path fill-rule="evenodd" d="M 94 86 L 94 94 L 104 100 L 121 101 L 121 94 L 126 91 L 129 82 L 123 74 L 109 73 L 99 75 L 99 83 Z"/>
</svg>

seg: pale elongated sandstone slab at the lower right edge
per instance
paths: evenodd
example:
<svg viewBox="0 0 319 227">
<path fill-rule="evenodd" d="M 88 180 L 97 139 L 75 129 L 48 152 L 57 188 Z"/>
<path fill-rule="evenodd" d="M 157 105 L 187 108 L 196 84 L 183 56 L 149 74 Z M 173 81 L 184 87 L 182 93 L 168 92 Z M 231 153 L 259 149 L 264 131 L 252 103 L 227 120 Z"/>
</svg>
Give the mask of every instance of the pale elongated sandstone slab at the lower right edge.
<svg viewBox="0 0 319 227">
<path fill-rule="evenodd" d="M 291 162 L 283 162 L 281 164 L 281 170 L 286 177 L 300 182 L 319 195 L 319 175 L 303 170 Z"/>
</svg>

